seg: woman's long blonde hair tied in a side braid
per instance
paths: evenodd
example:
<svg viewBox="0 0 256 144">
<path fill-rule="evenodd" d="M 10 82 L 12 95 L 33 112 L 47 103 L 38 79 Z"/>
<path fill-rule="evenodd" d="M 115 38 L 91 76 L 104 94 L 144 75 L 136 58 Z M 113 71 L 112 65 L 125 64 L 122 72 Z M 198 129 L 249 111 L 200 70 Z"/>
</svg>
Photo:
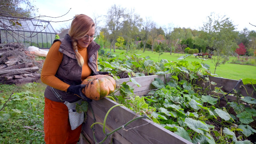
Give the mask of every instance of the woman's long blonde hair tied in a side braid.
<svg viewBox="0 0 256 144">
<path fill-rule="evenodd" d="M 84 65 L 84 59 L 77 50 L 77 40 L 84 37 L 94 25 L 92 18 L 80 14 L 75 16 L 68 31 L 69 36 L 72 38 L 73 49 L 76 53 L 77 63 L 80 67 Z"/>
</svg>

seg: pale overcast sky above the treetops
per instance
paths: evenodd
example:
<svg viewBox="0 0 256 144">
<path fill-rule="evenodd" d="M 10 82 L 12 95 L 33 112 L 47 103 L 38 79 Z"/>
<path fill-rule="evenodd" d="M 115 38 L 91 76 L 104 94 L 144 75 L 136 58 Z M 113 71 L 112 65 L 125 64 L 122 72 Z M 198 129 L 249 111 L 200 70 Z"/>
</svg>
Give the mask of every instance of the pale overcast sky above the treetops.
<svg viewBox="0 0 256 144">
<path fill-rule="evenodd" d="M 211 12 L 221 16 L 226 15 L 233 21 L 238 31 L 256 27 L 256 0 L 37 0 L 33 2 L 38 8 L 36 15 L 57 17 L 70 12 L 61 18 L 48 18 L 51 21 L 71 19 L 75 14 L 106 15 L 108 9 L 116 4 L 126 9 L 135 9 L 145 20 L 151 18 L 159 26 L 166 27 L 172 24 L 175 27 L 199 29 L 206 22 Z M 103 17 L 104 18 L 104 17 Z M 103 20 L 102 18 L 102 20 Z M 54 29 L 69 25 L 71 20 L 62 23 L 53 23 Z M 101 25 L 104 22 L 102 21 Z"/>
</svg>

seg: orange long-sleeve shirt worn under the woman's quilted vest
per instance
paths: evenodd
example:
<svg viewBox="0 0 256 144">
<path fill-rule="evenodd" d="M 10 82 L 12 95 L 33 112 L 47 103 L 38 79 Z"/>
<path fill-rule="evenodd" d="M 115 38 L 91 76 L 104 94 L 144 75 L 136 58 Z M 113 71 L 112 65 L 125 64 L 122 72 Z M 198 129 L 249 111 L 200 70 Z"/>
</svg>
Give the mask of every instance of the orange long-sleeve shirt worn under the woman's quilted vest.
<svg viewBox="0 0 256 144">
<path fill-rule="evenodd" d="M 60 45 L 61 45 L 61 42 L 57 41 L 53 43 L 51 48 L 49 49 L 49 52 L 45 58 L 44 65 L 41 71 L 41 80 L 43 83 L 53 88 L 56 88 L 62 91 L 67 91 L 70 85 L 67 83 L 64 83 L 63 81 L 61 81 L 55 76 L 63 57 L 63 53 L 58 51 Z M 77 50 L 81 54 L 81 56 L 84 58 L 84 65 L 82 67 L 82 75 L 81 75 L 81 80 L 84 80 L 85 78 L 91 75 L 92 69 L 88 65 L 87 48 L 82 48 L 78 45 Z M 98 69 L 98 65 L 97 65 L 97 69 Z"/>
</svg>

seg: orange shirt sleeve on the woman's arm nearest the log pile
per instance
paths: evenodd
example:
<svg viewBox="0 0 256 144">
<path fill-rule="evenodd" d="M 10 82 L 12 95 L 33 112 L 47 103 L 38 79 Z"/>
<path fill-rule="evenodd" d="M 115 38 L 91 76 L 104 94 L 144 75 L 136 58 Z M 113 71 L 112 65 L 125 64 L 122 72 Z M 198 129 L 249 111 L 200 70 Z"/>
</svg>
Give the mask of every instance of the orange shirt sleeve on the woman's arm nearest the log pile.
<svg viewBox="0 0 256 144">
<path fill-rule="evenodd" d="M 57 41 L 49 49 L 41 71 L 41 81 L 58 90 L 67 91 L 70 85 L 55 76 L 63 58 L 63 53 L 59 52 L 60 45 L 61 42 Z"/>
</svg>

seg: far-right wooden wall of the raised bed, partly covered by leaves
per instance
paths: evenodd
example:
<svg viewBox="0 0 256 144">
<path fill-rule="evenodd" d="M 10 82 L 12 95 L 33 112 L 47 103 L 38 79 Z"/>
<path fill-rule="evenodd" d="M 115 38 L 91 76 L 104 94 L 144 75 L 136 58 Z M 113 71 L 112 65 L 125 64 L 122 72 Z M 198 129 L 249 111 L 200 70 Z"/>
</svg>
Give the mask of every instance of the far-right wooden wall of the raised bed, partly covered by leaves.
<svg viewBox="0 0 256 144">
<path fill-rule="evenodd" d="M 212 90 L 214 90 L 214 87 L 222 87 L 222 90 L 226 93 L 228 93 L 232 89 L 234 89 L 235 85 L 239 82 L 238 80 L 219 78 L 219 77 L 211 77 L 211 76 L 209 76 L 209 81 L 210 82 L 213 81 L 217 84 L 215 86 L 213 86 L 213 85 L 210 86 L 210 88 Z M 202 80 L 200 80 L 199 85 L 206 88 L 209 86 L 209 82 L 203 82 Z M 247 85 L 244 85 L 242 81 L 238 83 L 237 90 L 240 91 L 240 94 L 242 94 L 243 96 L 248 96 L 247 92 L 249 95 L 251 95 L 253 92 L 253 89 L 248 87 Z M 255 96 L 253 96 L 253 97 L 255 98 Z"/>
</svg>

